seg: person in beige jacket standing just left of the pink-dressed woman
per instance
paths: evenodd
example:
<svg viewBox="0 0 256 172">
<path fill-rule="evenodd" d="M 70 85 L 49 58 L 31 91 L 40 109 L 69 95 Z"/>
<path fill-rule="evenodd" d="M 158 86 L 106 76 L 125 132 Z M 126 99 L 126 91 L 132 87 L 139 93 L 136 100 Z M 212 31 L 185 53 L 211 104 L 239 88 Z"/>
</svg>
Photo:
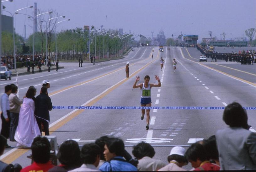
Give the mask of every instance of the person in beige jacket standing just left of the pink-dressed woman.
<svg viewBox="0 0 256 172">
<path fill-rule="evenodd" d="M 9 95 L 10 141 L 15 141 L 14 135 L 19 123 L 19 111 L 20 111 L 20 105 L 23 103 L 23 99 L 19 99 L 19 97 L 16 95 L 18 92 L 18 87 L 14 84 L 12 84 L 11 86 L 12 86 L 12 93 Z"/>
</svg>

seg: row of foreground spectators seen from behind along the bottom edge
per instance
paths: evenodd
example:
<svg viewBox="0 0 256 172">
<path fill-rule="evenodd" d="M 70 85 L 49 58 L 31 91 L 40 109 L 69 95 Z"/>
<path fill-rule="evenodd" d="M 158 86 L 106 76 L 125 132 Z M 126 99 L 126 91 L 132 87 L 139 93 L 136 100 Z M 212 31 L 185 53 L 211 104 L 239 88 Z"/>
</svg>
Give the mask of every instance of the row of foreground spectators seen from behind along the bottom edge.
<svg viewBox="0 0 256 172">
<path fill-rule="evenodd" d="M 132 156 L 123 140 L 102 136 L 94 143 L 79 145 L 66 140 L 57 152 L 60 165 L 53 165 L 51 145 L 46 137 L 37 136 L 31 144 L 33 163 L 27 167 L 0 162 L 0 171 L 178 171 L 188 163 L 192 170 L 256 170 L 256 133 L 249 130 L 246 111 L 239 103 L 225 107 L 223 120 L 228 127 L 216 135 L 192 144 L 187 150 L 175 146 L 167 156 L 168 164 L 154 159 L 154 148 L 145 142 L 133 146 Z M 6 138 L 0 135 L 0 155 Z"/>
</svg>

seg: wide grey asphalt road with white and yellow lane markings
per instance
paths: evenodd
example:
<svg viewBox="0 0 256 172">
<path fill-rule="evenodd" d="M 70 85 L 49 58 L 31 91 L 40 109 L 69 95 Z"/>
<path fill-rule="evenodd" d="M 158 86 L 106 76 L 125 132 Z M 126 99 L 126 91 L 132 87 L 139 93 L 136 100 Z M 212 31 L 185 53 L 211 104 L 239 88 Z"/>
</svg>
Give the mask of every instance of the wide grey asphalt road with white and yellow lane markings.
<svg viewBox="0 0 256 172">
<path fill-rule="evenodd" d="M 79 68 L 77 63 L 61 64 L 65 68 L 59 72 L 19 76 L 20 96 L 30 85 L 36 86 L 39 92 L 41 81 L 48 79 L 54 106 L 140 106 L 140 89 L 132 89 L 136 76 L 141 76 L 138 83 L 143 82 L 145 75 L 151 77 L 150 83 L 157 83 L 154 75 L 158 75 L 162 86 L 152 88 L 152 106 L 225 107 L 233 101 L 245 107 L 256 106 L 255 65 L 241 66 L 224 61 L 199 63 L 199 56 L 195 48 L 171 47 L 167 51 L 164 47 L 164 52 L 158 52 L 157 47 L 141 47 L 124 59 L 96 63 L 96 66 L 84 63 Z M 165 60 L 163 71 L 160 57 Z M 178 61 L 175 73 L 173 58 Z M 130 78 L 125 77 L 128 61 Z M 13 81 L 1 81 L 1 92 L 10 82 Z M 247 112 L 249 125 L 256 128 L 255 110 Z M 193 139 L 208 138 L 225 127 L 222 113 L 223 110 L 152 109 L 150 129 L 146 130 L 145 119 L 140 120 L 141 110 L 54 109 L 50 112 L 50 131 L 57 136 L 58 144 L 75 139 L 81 146 L 102 135 L 120 137 L 130 153 L 132 145 L 147 141 L 154 146 L 154 158 L 167 164 L 167 156 L 174 145 L 187 148 Z M 30 150 L 14 148 L 15 142 L 8 141 L 8 144 L 13 147 L 5 150 L 1 160 L 22 166 L 30 164 L 26 158 Z"/>
</svg>

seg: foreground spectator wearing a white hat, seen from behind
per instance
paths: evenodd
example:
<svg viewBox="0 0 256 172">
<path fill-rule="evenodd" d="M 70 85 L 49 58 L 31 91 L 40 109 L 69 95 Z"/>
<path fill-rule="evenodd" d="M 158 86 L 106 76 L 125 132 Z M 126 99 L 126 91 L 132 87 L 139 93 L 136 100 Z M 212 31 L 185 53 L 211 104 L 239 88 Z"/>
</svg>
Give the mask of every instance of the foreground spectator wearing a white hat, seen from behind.
<svg viewBox="0 0 256 172">
<path fill-rule="evenodd" d="M 158 171 L 185 171 L 181 168 L 188 164 L 188 160 L 184 157 L 186 150 L 181 146 L 174 146 L 168 156 L 169 164 L 159 169 Z"/>
</svg>

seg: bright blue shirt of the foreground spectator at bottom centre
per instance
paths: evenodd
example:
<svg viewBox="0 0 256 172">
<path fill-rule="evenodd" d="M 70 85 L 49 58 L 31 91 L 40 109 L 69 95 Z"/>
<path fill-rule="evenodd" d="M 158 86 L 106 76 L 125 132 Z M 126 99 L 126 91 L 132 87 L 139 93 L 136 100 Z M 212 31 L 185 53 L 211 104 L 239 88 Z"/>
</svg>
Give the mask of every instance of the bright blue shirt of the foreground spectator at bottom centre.
<svg viewBox="0 0 256 172">
<path fill-rule="evenodd" d="M 123 159 L 121 156 L 116 156 L 115 158 Z M 129 162 L 119 161 L 119 160 L 111 160 L 107 161 L 99 168 L 100 171 L 110 171 L 110 164 L 112 167 L 112 171 L 138 171 L 137 168 L 130 164 Z"/>
</svg>

